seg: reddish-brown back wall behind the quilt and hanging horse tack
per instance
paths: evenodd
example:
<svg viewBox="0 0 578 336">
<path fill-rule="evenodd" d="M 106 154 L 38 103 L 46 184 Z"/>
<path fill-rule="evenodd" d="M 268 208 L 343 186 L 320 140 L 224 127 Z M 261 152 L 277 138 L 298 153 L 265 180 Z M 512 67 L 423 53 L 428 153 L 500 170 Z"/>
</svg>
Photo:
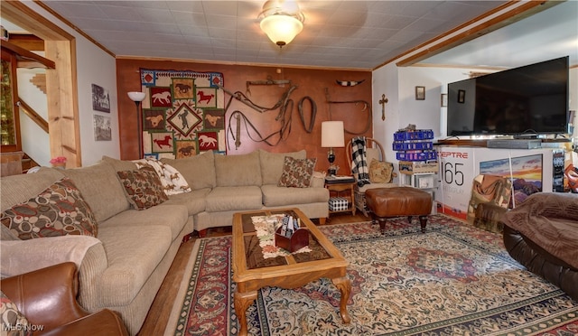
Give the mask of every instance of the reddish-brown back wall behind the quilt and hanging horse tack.
<svg viewBox="0 0 578 336">
<path fill-rule="evenodd" d="M 289 84 L 284 87 L 259 86 L 252 85 L 249 87 L 250 93 L 247 92 L 247 81 L 270 79 L 289 79 L 293 85 L 297 86 L 289 98 L 293 100 L 294 107 L 291 111 L 291 133 L 288 138 L 282 140 L 278 145 L 270 146 L 266 143 L 256 143 L 247 135 L 245 126 L 241 127 L 241 145 L 236 149 L 234 140 L 230 134 L 228 138 L 228 154 L 247 154 L 256 149 L 264 149 L 269 152 L 283 153 L 305 149 L 308 157 L 318 159 L 316 170 L 327 170 L 329 163 L 327 161 L 328 148 L 321 147 L 321 123 L 322 121 L 343 120 L 346 129 L 352 131 L 363 130 L 368 120 L 370 120 L 371 106 L 368 111 L 362 111 L 361 106 L 355 104 L 331 104 L 327 103 L 326 89 L 329 92 L 331 100 L 350 101 L 364 100 L 371 104 L 371 72 L 370 71 L 353 71 L 353 70 L 318 70 L 318 69 L 300 69 L 300 68 L 282 68 L 282 67 L 265 67 L 265 66 L 240 66 L 230 64 L 210 64 L 197 62 L 177 62 L 177 61 L 158 61 L 158 60 L 135 60 L 117 58 L 117 95 L 118 95 L 118 122 L 120 129 L 120 147 L 121 158 L 133 160 L 137 156 L 138 143 L 136 140 L 136 116 L 135 103 L 126 96 L 126 92 L 140 90 L 140 69 L 150 70 L 193 70 L 193 71 L 215 71 L 223 73 L 224 87 L 228 91 L 240 91 L 247 94 L 254 103 L 262 107 L 273 107 L 282 97 Z M 280 72 L 277 72 L 280 70 Z M 353 87 L 342 87 L 336 80 L 352 80 L 363 83 Z M 312 127 L 312 133 L 307 133 L 306 126 L 309 126 L 311 116 L 311 104 L 309 101 L 303 103 L 303 115 L 305 126 L 300 119 L 298 112 L 299 100 L 304 97 L 310 97 L 314 101 L 317 112 Z M 230 96 L 225 96 L 225 102 L 228 102 Z M 270 135 L 280 129 L 280 122 L 275 120 L 279 110 L 259 113 L 256 110 L 247 107 L 247 105 L 233 99 L 230 107 L 226 111 L 226 129 L 229 126 L 228 118 L 233 111 L 241 111 L 251 123 L 258 129 L 261 135 Z M 289 111 L 287 111 L 289 113 Z M 372 136 L 372 126 L 363 134 Z M 235 129 L 233 129 L 235 132 Z M 252 133 L 252 135 L 254 135 Z M 276 136 L 276 135 L 275 135 Z M 272 137 L 272 142 L 276 137 Z M 355 135 L 346 134 L 346 143 Z M 336 148 L 336 164 L 340 166 L 340 174 L 347 174 L 347 163 L 345 158 L 345 148 Z"/>
</svg>

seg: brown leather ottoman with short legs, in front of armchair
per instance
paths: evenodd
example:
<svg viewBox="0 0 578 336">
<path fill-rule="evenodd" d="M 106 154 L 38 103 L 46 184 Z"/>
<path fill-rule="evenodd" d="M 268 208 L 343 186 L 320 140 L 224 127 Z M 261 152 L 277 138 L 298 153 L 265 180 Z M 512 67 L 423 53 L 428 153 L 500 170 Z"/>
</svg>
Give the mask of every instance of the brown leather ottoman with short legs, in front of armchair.
<svg viewBox="0 0 578 336">
<path fill-rule="evenodd" d="M 407 216 L 411 223 L 418 216 L 422 232 L 425 232 L 427 215 L 432 212 L 432 195 L 412 187 L 378 188 L 365 191 L 366 202 L 374 219 L 379 222 L 383 235 L 388 218 Z"/>
</svg>

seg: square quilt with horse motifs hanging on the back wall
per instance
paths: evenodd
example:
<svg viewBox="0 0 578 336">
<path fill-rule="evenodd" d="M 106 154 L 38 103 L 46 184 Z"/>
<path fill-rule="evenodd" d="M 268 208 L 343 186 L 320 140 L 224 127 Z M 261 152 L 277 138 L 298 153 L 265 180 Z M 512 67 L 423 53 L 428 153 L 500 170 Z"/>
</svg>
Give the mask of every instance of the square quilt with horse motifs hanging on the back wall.
<svg viewBox="0 0 578 336">
<path fill-rule="evenodd" d="M 225 95 L 219 72 L 140 70 L 144 156 L 225 152 Z"/>
</svg>

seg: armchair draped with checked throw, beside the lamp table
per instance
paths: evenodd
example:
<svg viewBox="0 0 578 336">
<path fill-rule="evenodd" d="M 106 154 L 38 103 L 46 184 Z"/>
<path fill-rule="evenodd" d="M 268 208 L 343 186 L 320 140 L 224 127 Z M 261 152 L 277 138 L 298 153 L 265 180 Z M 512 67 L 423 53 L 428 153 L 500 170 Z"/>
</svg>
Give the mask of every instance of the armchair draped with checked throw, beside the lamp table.
<svg viewBox="0 0 578 336">
<path fill-rule="evenodd" d="M 351 145 L 353 145 L 351 139 L 348 144 L 345 146 L 345 153 L 347 154 L 348 160 L 347 163 L 349 164 L 350 167 L 350 172 L 352 172 L 352 148 Z M 366 161 L 368 163 L 368 167 L 370 167 L 371 162 L 375 159 L 380 163 L 387 163 L 386 161 L 386 154 L 383 150 L 383 146 L 381 144 L 379 144 L 379 142 L 371 137 L 366 137 Z M 359 211 L 361 211 L 366 217 L 369 217 L 369 209 L 368 206 L 366 204 L 366 197 L 365 197 L 365 191 L 368 191 L 369 189 L 376 189 L 376 188 L 392 188 L 392 187 L 397 187 L 397 184 L 393 182 L 394 177 L 397 176 L 397 173 L 393 172 L 393 163 L 388 163 L 391 165 L 391 175 L 389 177 L 389 181 L 387 182 L 373 182 L 372 177 L 371 177 L 371 170 L 369 172 L 370 178 L 369 180 L 371 181 L 371 183 L 369 184 L 365 184 L 363 186 L 359 186 L 359 184 L 356 183 L 355 185 L 355 206 L 357 207 L 357 209 L 359 209 Z M 355 178 L 355 181 L 358 182 L 358 176 L 356 173 L 353 173 L 353 177 Z"/>
</svg>

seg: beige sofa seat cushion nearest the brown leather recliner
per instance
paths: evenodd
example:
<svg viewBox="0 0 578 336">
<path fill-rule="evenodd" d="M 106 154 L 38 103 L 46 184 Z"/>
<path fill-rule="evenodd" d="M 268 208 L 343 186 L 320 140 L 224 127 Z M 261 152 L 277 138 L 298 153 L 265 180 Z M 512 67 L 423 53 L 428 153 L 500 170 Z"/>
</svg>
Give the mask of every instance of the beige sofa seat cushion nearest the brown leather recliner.
<svg viewBox="0 0 578 336">
<path fill-rule="evenodd" d="M 161 225 L 142 225 L 138 228 L 118 225 L 101 228 L 99 237 L 107 251 L 108 267 L 95 284 L 98 305 L 128 305 L 171 246 L 171 229 Z"/>
</svg>

